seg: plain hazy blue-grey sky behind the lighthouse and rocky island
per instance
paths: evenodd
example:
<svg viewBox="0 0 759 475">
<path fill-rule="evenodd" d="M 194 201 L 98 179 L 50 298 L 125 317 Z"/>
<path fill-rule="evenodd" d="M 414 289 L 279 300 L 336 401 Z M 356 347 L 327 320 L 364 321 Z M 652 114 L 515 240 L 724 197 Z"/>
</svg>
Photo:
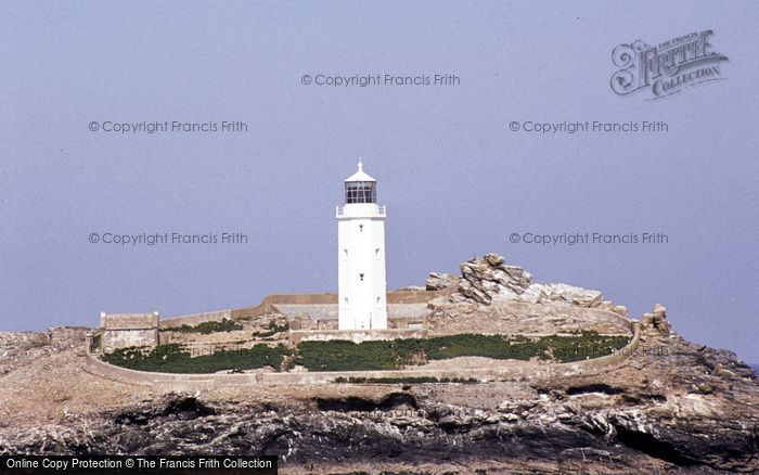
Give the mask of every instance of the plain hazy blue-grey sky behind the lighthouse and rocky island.
<svg viewBox="0 0 759 475">
<path fill-rule="evenodd" d="M 632 7 L 634 5 L 634 7 Z M 0 329 L 95 325 L 336 290 L 334 206 L 363 157 L 387 205 L 390 288 L 488 252 L 539 282 L 667 306 L 690 339 L 759 361 L 755 2 L 36 2 L 0 15 Z M 725 78 L 620 97 L 612 50 L 706 29 Z M 303 76 L 456 75 L 330 87 Z M 241 120 L 117 133 L 106 121 Z M 662 133 L 511 121 L 662 120 Z M 91 131 L 98 121 L 101 129 Z M 90 243 L 242 232 L 247 244 Z M 649 245 L 510 234 L 665 232 Z"/>
</svg>

